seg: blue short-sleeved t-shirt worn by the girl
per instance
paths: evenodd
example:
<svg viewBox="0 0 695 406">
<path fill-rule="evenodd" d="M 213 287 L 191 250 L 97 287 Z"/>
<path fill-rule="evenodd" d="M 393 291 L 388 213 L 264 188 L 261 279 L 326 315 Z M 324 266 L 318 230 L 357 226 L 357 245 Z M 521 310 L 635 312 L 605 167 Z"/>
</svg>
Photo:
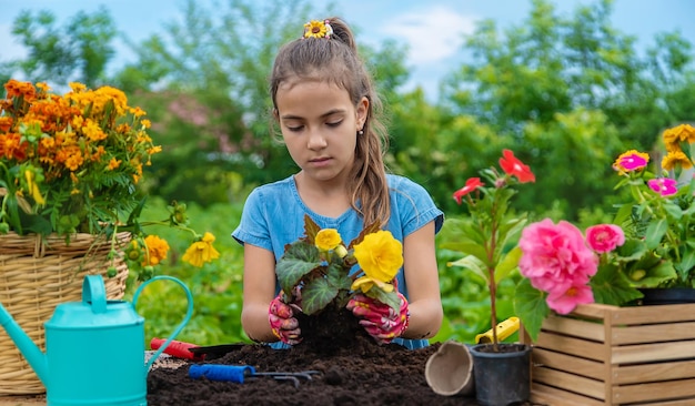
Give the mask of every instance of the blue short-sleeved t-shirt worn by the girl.
<svg viewBox="0 0 695 406">
<path fill-rule="evenodd" d="M 442 229 L 444 213 L 439 210 L 424 187 L 397 175 L 386 175 L 391 197 L 391 217 L 384 230 L 401 241 L 434 221 L 435 233 Z M 296 190 L 294 176 L 254 189 L 244 204 L 241 223 L 232 236 L 241 244 L 249 243 L 272 251 L 275 261 L 284 254 L 284 246 L 304 235 L 304 214 L 321 229 L 335 229 L 343 241 L 354 240 L 364 229 L 364 222 L 350 209 L 339 217 L 326 217 L 304 205 Z M 407 298 L 407 285 L 402 268 L 397 276 L 399 290 Z M 275 282 L 276 286 L 278 282 Z M 280 291 L 280 287 L 276 287 Z M 429 344 L 426 339 L 396 338 L 394 343 L 409 348 Z"/>
</svg>

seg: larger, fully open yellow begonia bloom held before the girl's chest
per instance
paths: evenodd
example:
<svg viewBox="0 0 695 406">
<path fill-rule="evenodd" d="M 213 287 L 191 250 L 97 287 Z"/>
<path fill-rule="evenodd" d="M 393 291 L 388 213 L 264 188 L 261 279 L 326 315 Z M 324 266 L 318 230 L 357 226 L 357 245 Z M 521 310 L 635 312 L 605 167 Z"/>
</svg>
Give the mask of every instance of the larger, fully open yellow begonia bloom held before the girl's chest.
<svg viewBox="0 0 695 406">
<path fill-rule="evenodd" d="M 403 265 L 403 244 L 391 232 L 380 230 L 354 246 L 354 256 L 369 278 L 390 282 Z"/>
</svg>

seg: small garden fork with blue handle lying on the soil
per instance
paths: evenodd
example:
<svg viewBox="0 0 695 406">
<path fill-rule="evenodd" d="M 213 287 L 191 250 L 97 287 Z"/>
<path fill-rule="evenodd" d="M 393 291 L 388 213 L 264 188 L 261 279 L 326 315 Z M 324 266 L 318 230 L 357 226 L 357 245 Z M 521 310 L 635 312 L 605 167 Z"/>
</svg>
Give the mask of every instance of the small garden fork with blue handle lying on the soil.
<svg viewBox="0 0 695 406">
<path fill-rule="evenodd" d="M 194 364 L 189 368 L 189 376 L 194 379 L 204 377 L 210 380 L 235 382 L 238 384 L 243 384 L 246 378 L 268 376 L 278 380 L 292 380 L 294 387 L 299 387 L 299 378 L 311 380 L 311 376 L 316 374 L 320 374 L 320 372 L 256 372 L 255 368 L 250 365 Z"/>
</svg>

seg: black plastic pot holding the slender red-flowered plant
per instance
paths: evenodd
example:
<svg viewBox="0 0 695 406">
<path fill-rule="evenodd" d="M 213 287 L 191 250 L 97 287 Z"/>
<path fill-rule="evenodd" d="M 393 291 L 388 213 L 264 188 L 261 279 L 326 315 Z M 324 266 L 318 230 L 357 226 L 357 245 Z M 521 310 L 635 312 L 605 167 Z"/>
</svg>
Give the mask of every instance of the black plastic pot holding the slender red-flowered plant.
<svg viewBox="0 0 695 406">
<path fill-rule="evenodd" d="M 531 396 L 531 346 L 498 346 L 498 353 L 492 352 L 492 344 L 471 347 L 475 398 L 485 406 L 521 405 Z"/>
</svg>

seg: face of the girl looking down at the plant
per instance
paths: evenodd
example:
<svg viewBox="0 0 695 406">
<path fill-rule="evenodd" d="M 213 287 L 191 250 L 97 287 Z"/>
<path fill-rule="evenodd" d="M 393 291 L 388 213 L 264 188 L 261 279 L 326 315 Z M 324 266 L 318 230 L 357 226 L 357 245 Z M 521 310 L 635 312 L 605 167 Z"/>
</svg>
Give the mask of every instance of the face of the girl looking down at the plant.
<svg viewBox="0 0 695 406">
<path fill-rule="evenodd" d="M 369 100 L 362 98 L 355 106 L 346 90 L 302 80 L 280 85 L 275 103 L 282 138 L 303 174 L 316 181 L 344 180 Z"/>
</svg>

